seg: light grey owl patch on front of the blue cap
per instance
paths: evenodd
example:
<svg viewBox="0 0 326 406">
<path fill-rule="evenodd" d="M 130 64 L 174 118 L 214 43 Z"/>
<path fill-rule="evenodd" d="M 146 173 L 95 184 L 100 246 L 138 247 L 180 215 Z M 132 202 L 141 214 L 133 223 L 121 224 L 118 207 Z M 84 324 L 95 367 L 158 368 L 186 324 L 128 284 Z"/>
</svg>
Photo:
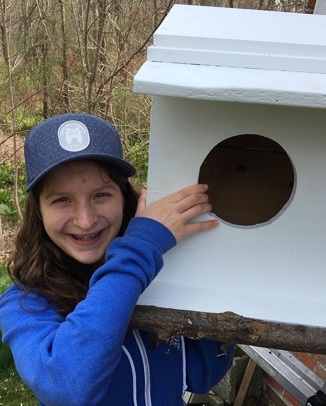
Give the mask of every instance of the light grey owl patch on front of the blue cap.
<svg viewBox="0 0 326 406">
<path fill-rule="evenodd" d="M 58 129 L 60 146 L 66 151 L 82 151 L 90 143 L 90 134 L 85 124 L 70 120 L 61 124 Z"/>
</svg>

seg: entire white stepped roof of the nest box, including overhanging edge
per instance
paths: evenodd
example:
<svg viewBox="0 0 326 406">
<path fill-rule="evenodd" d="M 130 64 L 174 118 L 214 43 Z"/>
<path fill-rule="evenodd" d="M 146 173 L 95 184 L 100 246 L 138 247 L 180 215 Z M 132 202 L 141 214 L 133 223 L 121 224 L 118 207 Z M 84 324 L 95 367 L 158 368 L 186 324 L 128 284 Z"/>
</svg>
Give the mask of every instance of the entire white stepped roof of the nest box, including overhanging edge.
<svg viewBox="0 0 326 406">
<path fill-rule="evenodd" d="M 175 5 L 135 93 L 326 106 L 326 16 Z"/>
</svg>

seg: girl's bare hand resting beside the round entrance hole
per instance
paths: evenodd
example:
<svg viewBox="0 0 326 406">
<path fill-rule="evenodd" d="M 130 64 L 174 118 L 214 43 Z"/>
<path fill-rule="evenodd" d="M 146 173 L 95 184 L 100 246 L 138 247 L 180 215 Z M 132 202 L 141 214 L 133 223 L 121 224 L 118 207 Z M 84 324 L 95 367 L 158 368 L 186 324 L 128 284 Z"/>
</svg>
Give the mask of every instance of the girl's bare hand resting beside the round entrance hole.
<svg viewBox="0 0 326 406">
<path fill-rule="evenodd" d="M 211 204 L 205 194 L 207 189 L 205 184 L 188 186 L 149 207 L 146 207 L 146 190 L 143 189 L 135 217 L 147 217 L 162 223 L 177 241 L 198 231 L 210 230 L 219 224 L 217 220 L 188 224 L 197 215 L 211 211 Z"/>
</svg>

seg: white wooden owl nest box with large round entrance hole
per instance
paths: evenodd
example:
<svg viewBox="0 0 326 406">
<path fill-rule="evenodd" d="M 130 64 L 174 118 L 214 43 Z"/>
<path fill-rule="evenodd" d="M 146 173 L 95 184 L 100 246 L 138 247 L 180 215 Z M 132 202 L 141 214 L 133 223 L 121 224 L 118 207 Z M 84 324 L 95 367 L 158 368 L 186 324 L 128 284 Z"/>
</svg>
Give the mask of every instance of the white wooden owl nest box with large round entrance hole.
<svg viewBox="0 0 326 406">
<path fill-rule="evenodd" d="M 148 204 L 205 182 L 220 221 L 139 304 L 326 327 L 326 16 L 176 5 L 134 91 Z"/>
</svg>

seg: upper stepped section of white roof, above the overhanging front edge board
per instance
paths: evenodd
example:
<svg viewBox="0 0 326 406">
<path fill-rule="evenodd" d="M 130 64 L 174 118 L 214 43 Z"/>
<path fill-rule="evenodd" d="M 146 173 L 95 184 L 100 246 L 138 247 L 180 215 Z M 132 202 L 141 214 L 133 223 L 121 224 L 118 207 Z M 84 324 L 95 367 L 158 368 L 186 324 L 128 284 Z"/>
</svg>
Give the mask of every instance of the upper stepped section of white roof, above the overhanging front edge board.
<svg viewBox="0 0 326 406">
<path fill-rule="evenodd" d="M 326 73 L 325 55 L 326 16 L 175 5 L 147 59 Z"/>
</svg>

